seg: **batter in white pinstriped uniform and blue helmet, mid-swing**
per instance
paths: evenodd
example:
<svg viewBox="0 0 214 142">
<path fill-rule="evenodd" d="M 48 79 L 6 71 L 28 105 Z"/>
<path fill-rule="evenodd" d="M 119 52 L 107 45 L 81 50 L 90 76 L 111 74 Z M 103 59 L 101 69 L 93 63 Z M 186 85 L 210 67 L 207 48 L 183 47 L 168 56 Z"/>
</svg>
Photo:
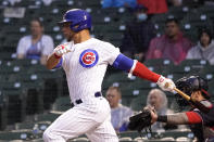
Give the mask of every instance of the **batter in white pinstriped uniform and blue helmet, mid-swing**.
<svg viewBox="0 0 214 142">
<path fill-rule="evenodd" d="M 74 44 L 58 46 L 48 57 L 47 67 L 63 67 L 74 107 L 52 122 L 45 131 L 43 140 L 65 142 L 85 133 L 91 142 L 118 142 L 111 124 L 110 105 L 101 94 L 108 65 L 156 82 L 165 91 L 172 91 L 175 85 L 140 62 L 126 57 L 111 43 L 91 38 L 91 17 L 86 11 L 68 10 L 60 24 Z"/>
</svg>

